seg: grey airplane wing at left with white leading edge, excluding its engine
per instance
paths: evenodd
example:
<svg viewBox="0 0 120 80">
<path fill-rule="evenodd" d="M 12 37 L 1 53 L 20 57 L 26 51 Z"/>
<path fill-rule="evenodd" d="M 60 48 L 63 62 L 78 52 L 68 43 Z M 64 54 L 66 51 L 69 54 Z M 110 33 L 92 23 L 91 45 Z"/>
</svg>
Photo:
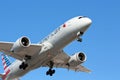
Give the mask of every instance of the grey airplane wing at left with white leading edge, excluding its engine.
<svg viewBox="0 0 120 80">
<path fill-rule="evenodd" d="M 33 56 L 41 50 L 40 44 L 31 44 L 29 47 L 22 49 L 19 52 L 11 52 L 14 42 L 0 42 L 0 52 L 12 56 L 16 59 L 23 60 L 25 55 Z"/>
</svg>

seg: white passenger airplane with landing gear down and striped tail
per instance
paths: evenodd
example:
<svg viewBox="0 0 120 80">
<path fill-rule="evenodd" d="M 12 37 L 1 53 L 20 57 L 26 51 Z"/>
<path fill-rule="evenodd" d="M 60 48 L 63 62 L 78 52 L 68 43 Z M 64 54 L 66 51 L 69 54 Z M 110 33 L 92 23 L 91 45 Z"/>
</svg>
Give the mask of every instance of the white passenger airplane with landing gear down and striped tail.
<svg viewBox="0 0 120 80">
<path fill-rule="evenodd" d="M 53 76 L 53 68 L 66 68 L 74 71 L 91 72 L 82 63 L 86 61 L 83 52 L 72 56 L 63 50 L 74 40 L 82 42 L 81 36 L 91 25 L 92 20 L 86 16 L 77 16 L 62 24 L 40 43 L 32 44 L 30 39 L 22 36 L 16 42 L 0 42 L 0 52 L 4 73 L 2 80 L 20 80 L 26 73 L 39 67 L 49 67 L 46 75 Z M 16 59 L 11 63 L 8 56 Z"/>
</svg>

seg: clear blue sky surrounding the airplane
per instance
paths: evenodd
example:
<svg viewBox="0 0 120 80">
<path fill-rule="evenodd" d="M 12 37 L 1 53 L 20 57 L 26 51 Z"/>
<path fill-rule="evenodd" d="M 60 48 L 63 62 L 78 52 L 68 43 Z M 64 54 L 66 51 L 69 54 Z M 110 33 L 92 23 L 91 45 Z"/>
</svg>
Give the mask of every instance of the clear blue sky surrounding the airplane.
<svg viewBox="0 0 120 80">
<path fill-rule="evenodd" d="M 119 80 L 120 79 L 120 1 L 119 0 L 1 0 L 0 41 L 16 41 L 28 36 L 37 43 L 66 20 L 84 15 L 93 23 L 83 42 L 72 42 L 65 51 L 72 55 L 83 51 L 83 64 L 90 74 L 56 69 L 53 77 L 45 75 L 48 68 L 39 68 L 21 80 Z M 0 72 L 3 72 L 0 61 Z"/>
</svg>

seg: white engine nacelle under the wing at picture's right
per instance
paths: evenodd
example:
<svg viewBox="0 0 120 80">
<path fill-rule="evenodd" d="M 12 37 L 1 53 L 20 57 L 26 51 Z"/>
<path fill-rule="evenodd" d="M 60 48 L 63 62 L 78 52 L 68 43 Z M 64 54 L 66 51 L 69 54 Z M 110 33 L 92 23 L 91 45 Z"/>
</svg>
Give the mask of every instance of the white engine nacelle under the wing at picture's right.
<svg viewBox="0 0 120 80">
<path fill-rule="evenodd" d="M 78 52 L 70 57 L 69 65 L 77 66 L 86 61 L 86 55 L 83 52 Z"/>
</svg>

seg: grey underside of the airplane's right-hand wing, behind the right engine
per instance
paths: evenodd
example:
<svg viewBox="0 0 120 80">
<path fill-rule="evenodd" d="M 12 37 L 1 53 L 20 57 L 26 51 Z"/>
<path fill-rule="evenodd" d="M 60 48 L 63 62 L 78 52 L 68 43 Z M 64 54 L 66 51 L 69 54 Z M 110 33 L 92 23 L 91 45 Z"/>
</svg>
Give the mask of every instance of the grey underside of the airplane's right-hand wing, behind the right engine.
<svg viewBox="0 0 120 80">
<path fill-rule="evenodd" d="M 70 59 L 70 56 L 68 56 L 64 51 L 60 51 L 59 54 L 52 59 L 54 62 L 54 67 L 56 68 L 66 68 L 69 70 L 74 70 L 76 72 L 91 72 L 89 69 L 85 68 L 82 65 L 77 65 L 77 66 L 68 66 L 67 63 Z M 49 66 L 49 64 L 45 65 L 46 67 Z"/>
</svg>

